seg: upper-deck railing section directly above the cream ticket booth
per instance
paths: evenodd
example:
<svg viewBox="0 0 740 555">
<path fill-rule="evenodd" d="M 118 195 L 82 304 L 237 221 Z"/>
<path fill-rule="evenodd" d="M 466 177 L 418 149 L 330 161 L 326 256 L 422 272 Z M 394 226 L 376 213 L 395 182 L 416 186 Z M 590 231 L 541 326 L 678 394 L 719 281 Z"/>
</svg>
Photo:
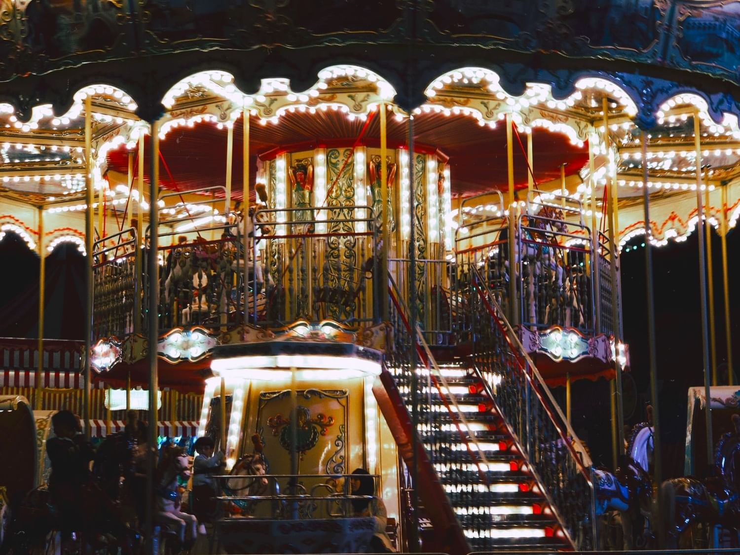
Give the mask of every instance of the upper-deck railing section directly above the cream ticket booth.
<svg viewBox="0 0 740 555">
<path fill-rule="evenodd" d="M 376 303 L 378 235 L 370 206 L 260 209 L 253 217 L 261 236 L 253 243 L 253 310 L 261 326 L 299 318 L 326 318 L 359 326 L 380 317 Z M 260 280 L 262 283 L 260 283 Z M 250 300 L 258 306 L 258 298 Z"/>
</svg>

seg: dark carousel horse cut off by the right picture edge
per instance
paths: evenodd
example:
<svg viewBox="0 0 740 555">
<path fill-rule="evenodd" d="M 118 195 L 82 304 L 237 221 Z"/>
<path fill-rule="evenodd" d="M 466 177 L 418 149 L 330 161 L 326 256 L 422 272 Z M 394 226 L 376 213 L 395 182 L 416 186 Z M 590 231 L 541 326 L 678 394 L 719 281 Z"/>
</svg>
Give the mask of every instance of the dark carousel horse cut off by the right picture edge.
<svg viewBox="0 0 740 555">
<path fill-rule="evenodd" d="M 682 534 L 703 524 L 740 533 L 740 414 L 733 414 L 734 431 L 724 434 L 714 451 L 715 476 L 700 480 L 673 478 L 660 485 L 662 532 L 667 548 L 676 548 Z"/>
</svg>

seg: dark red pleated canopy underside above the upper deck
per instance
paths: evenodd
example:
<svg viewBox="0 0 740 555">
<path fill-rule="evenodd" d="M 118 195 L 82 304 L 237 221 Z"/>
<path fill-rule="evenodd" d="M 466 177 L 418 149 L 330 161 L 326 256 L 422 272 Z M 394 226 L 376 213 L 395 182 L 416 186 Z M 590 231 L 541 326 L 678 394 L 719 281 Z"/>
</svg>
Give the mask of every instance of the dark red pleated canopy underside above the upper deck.
<svg viewBox="0 0 740 555">
<path fill-rule="evenodd" d="M 232 197 L 241 198 L 242 189 L 242 124 L 234 129 Z M 256 159 L 273 149 L 291 144 L 320 145 L 323 141 L 346 139 L 351 145 L 360 134 L 363 121 L 349 119 L 340 112 L 319 111 L 316 114 L 293 112 L 280 117 L 277 124 L 261 125 L 257 118 L 250 124 L 249 180 L 255 182 Z M 377 144 L 379 118 L 372 119 L 364 137 Z M 408 121 L 388 118 L 389 145 L 406 144 Z M 506 129 L 499 122 L 495 129 L 480 127 L 470 116 L 445 116 L 437 113 L 414 118 L 414 141 L 440 149 L 450 158 L 452 192 L 469 196 L 491 189 L 506 189 Z M 522 144 L 526 148 L 526 136 Z M 312 148 L 309 146 L 309 148 Z M 160 180 L 164 189 L 187 191 L 203 186 L 222 185 L 226 175 L 226 129 L 202 123 L 195 127 L 173 129 L 160 143 L 166 166 L 161 164 Z M 588 162 L 588 146 L 576 147 L 564 135 L 535 129 L 533 135 L 534 175 L 536 181 L 549 181 L 560 175 L 560 164 L 571 175 Z M 149 172 L 149 148 L 145 149 L 145 171 Z M 127 150 L 119 148 L 108 155 L 108 166 L 115 171 L 128 170 Z M 172 172 L 172 178 L 167 170 Z M 525 152 L 514 135 L 514 180 L 517 186 L 527 183 Z M 252 195 L 254 192 L 252 191 Z"/>
</svg>

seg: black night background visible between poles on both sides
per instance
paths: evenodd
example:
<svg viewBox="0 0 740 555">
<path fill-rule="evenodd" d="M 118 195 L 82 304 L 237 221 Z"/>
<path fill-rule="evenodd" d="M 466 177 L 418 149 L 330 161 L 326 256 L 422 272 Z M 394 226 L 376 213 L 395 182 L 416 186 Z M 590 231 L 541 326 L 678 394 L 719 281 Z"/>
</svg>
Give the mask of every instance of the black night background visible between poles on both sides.
<svg viewBox="0 0 740 555">
<path fill-rule="evenodd" d="M 633 239 L 622 252 L 625 340 L 630 346 L 631 377 L 625 377 L 625 418 L 629 424 L 645 419 L 650 400 L 645 308 L 645 247 Z M 628 250 L 629 249 L 629 250 Z M 680 475 L 686 425 L 687 388 L 702 386 L 701 318 L 699 316 L 698 243 L 696 233 L 683 243 L 670 241 L 653 249 L 657 364 L 660 422 L 664 448 L 664 477 Z M 722 299 L 720 240 L 713 234 L 713 266 L 716 306 L 717 357 L 720 374 L 726 369 L 724 302 Z M 740 262 L 740 233 L 727 235 L 730 255 L 730 314 L 736 375 L 740 374 L 740 295 L 733 290 Z M 13 233 L 0 241 L 0 337 L 36 337 L 38 313 L 38 258 Z M 81 339 L 84 329 L 84 258 L 74 245 L 58 246 L 47 258 L 47 309 L 44 336 L 50 339 Z M 634 383 L 634 387 L 630 387 Z M 720 377 L 727 383 L 727 374 Z M 738 380 L 735 380 L 738 383 Z M 739 387 L 740 388 L 740 387 Z M 556 397 L 565 400 L 564 388 Z M 605 380 L 573 383 L 573 428 L 591 449 L 593 460 L 610 465 L 611 439 L 609 388 Z"/>
</svg>

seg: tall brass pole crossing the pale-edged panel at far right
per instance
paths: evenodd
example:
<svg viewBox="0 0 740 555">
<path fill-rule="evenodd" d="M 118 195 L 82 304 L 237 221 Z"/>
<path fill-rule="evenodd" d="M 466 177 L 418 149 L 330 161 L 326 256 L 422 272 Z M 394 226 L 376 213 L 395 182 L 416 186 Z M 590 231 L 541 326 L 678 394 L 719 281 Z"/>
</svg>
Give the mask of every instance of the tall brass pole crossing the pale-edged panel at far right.
<svg viewBox="0 0 740 555">
<path fill-rule="evenodd" d="M 702 354 L 704 363 L 704 398 L 707 399 L 707 467 L 712 468 L 714 461 L 714 440 L 712 437 L 712 411 L 709 408 L 710 360 L 709 360 L 709 324 L 707 322 L 707 261 L 704 259 L 704 210 L 702 209 L 702 126 L 699 121 L 699 110 L 693 115 L 694 147 L 696 148 L 696 238 L 699 240 L 699 300 L 702 307 Z"/>
</svg>

